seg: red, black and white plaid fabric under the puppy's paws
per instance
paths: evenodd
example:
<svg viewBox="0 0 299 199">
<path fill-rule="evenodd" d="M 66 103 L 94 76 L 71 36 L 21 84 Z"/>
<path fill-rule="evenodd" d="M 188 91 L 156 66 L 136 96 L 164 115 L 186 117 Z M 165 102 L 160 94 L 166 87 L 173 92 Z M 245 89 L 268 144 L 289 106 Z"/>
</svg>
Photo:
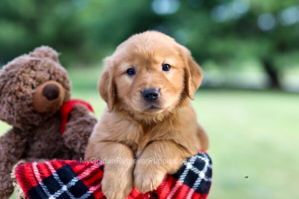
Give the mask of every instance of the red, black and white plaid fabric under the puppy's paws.
<svg viewBox="0 0 299 199">
<path fill-rule="evenodd" d="M 53 160 L 19 164 L 15 178 L 28 199 L 103 199 L 103 169 L 102 164 Z M 165 176 L 156 190 L 142 194 L 133 189 L 128 199 L 206 199 L 211 177 L 211 159 L 199 152 Z"/>
</svg>

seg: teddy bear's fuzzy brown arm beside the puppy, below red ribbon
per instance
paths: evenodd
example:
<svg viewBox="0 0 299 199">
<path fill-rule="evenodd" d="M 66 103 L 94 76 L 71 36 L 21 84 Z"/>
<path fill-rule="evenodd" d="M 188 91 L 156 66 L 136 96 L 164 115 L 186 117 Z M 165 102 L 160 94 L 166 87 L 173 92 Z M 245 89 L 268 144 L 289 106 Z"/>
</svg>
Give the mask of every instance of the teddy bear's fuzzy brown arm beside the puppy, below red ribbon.
<svg viewBox="0 0 299 199">
<path fill-rule="evenodd" d="M 75 105 L 62 135 L 65 145 L 83 158 L 88 139 L 96 123 L 97 119 L 84 105 Z"/>
</svg>

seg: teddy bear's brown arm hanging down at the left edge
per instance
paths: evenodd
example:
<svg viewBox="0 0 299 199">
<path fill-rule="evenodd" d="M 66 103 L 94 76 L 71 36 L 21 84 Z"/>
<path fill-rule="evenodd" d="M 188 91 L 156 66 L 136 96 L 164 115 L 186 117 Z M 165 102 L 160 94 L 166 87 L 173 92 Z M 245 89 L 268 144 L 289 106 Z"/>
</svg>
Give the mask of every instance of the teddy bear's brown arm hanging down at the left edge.
<svg viewBox="0 0 299 199">
<path fill-rule="evenodd" d="M 26 136 L 12 128 L 0 137 L 0 199 L 8 199 L 13 192 L 10 173 L 25 151 Z"/>
</svg>

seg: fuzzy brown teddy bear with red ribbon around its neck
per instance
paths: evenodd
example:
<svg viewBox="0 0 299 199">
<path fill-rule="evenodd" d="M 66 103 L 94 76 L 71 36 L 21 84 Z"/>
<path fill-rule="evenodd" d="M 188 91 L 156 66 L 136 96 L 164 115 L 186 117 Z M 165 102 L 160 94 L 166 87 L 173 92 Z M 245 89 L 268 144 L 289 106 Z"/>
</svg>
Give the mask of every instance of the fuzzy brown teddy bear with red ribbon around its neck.
<svg viewBox="0 0 299 199">
<path fill-rule="evenodd" d="M 70 100 L 70 81 L 50 47 L 19 56 L 0 71 L 0 199 L 13 192 L 10 172 L 20 159 L 79 160 L 96 124 L 91 107 Z"/>
</svg>

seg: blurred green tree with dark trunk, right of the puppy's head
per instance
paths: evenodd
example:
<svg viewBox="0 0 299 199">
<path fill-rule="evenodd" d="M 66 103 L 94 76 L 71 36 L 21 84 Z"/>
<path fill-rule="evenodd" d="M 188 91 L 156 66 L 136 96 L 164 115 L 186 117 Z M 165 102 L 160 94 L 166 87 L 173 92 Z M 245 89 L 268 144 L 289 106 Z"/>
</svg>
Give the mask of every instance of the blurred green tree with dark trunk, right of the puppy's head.
<svg viewBox="0 0 299 199">
<path fill-rule="evenodd" d="M 284 67 L 299 63 L 299 2 L 297 0 L 186 0 L 169 21 L 169 32 L 202 62 L 220 66 L 258 60 L 281 87 Z M 288 57 L 288 58 L 287 58 Z"/>
</svg>

